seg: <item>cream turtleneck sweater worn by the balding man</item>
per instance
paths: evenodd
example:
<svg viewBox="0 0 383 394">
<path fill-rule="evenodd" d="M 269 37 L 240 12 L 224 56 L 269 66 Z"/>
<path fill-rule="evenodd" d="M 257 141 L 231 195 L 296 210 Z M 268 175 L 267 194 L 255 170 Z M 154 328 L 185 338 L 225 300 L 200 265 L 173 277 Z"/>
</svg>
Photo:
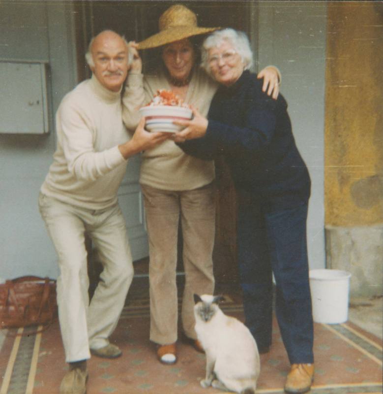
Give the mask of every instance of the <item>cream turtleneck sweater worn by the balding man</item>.
<svg viewBox="0 0 383 394">
<path fill-rule="evenodd" d="M 104 209 L 117 202 L 126 163 L 118 145 L 130 139 L 120 92 L 92 77 L 69 92 L 56 114 L 57 150 L 41 192 L 62 202 Z"/>
</svg>

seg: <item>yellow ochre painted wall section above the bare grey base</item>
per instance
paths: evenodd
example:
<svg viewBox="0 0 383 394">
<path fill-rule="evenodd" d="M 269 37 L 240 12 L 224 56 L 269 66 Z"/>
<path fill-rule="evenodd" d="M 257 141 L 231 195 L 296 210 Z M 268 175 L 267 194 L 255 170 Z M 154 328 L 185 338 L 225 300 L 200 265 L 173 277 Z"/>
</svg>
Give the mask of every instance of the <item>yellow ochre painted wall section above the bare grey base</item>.
<svg viewBox="0 0 383 394">
<path fill-rule="evenodd" d="M 326 225 L 383 223 L 383 5 L 328 6 Z"/>
</svg>

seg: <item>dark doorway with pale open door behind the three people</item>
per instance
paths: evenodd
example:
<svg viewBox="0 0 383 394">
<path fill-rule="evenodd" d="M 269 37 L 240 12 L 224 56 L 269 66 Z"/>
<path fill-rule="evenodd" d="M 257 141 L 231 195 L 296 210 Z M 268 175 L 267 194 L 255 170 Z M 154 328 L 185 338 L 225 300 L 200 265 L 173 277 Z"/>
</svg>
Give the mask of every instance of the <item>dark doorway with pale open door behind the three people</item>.
<svg viewBox="0 0 383 394">
<path fill-rule="evenodd" d="M 128 41 L 137 42 L 158 32 L 159 16 L 174 1 L 82 1 L 77 4 L 78 11 L 78 69 L 84 78 L 89 77 L 84 52 L 90 38 L 105 29 L 114 30 Z M 249 33 L 251 21 L 248 1 L 182 1 L 197 14 L 198 25 L 204 27 L 232 27 Z M 150 50 L 143 51 L 145 62 Z M 119 193 L 121 208 L 125 211 L 133 259 L 139 267 L 139 275 L 145 274 L 147 264 L 147 237 L 141 192 L 139 191 L 139 158 L 129 163 L 124 184 Z M 214 274 L 217 283 L 237 282 L 236 269 L 236 196 L 230 174 L 222 161 L 216 162 L 217 179 L 217 217 L 214 247 Z M 133 223 L 132 223 L 133 218 Z M 180 232 L 179 232 L 180 233 Z M 139 234 L 140 236 L 137 236 Z M 181 234 L 181 233 L 180 233 Z M 177 272 L 182 275 L 182 242 L 178 242 Z M 143 268 L 144 266 L 144 268 Z"/>
</svg>

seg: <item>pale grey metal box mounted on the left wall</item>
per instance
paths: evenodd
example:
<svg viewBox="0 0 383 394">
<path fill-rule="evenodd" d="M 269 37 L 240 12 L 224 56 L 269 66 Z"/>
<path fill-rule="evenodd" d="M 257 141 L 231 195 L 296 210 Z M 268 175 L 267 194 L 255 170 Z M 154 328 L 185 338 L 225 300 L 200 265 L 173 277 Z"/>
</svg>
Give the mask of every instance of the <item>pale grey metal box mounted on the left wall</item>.
<svg viewBox="0 0 383 394">
<path fill-rule="evenodd" d="M 0 60 L 0 133 L 49 132 L 47 63 Z"/>
</svg>

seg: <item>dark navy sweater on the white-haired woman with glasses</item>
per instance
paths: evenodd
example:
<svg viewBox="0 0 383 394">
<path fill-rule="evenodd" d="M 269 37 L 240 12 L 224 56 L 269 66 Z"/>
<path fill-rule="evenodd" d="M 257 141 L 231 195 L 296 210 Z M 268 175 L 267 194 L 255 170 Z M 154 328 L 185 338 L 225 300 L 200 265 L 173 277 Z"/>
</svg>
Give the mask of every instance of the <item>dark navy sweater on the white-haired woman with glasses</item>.
<svg viewBox="0 0 383 394">
<path fill-rule="evenodd" d="M 220 86 L 207 114 L 203 138 L 178 144 L 185 153 L 211 160 L 223 154 L 238 192 L 256 193 L 267 211 L 307 203 L 310 177 L 295 145 L 287 102 L 262 92 L 262 80 L 244 71 Z"/>
</svg>

